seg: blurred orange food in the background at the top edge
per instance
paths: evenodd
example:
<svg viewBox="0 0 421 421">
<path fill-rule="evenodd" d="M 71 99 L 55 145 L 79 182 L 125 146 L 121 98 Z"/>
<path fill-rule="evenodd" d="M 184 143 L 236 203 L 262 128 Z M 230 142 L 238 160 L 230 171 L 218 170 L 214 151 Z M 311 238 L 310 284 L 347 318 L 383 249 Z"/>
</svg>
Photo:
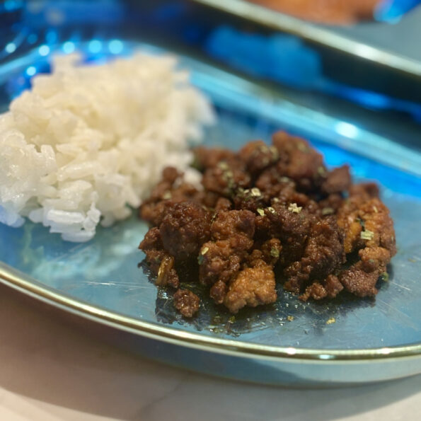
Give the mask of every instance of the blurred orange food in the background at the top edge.
<svg viewBox="0 0 421 421">
<path fill-rule="evenodd" d="M 373 18 L 380 0 L 251 0 L 297 18 L 319 23 L 354 23 Z"/>
</svg>

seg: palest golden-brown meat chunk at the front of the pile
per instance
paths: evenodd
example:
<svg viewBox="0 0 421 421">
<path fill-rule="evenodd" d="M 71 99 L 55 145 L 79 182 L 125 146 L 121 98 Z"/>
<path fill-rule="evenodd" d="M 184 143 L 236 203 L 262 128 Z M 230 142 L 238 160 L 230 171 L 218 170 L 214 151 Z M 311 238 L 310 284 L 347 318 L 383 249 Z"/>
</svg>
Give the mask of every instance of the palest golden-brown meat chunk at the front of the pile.
<svg viewBox="0 0 421 421">
<path fill-rule="evenodd" d="M 229 284 L 224 305 L 231 313 L 238 313 L 244 306 L 270 304 L 276 299 L 275 275 L 272 267 L 262 261 L 262 264 L 248 267 L 238 273 Z"/>
</svg>

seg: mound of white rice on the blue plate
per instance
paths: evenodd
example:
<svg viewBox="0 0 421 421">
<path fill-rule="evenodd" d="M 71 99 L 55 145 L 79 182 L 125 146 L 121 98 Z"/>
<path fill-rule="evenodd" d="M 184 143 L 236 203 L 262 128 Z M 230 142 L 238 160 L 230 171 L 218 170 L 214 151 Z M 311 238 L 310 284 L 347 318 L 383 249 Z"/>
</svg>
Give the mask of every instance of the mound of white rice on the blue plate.
<svg viewBox="0 0 421 421">
<path fill-rule="evenodd" d="M 164 166 L 188 168 L 212 110 L 173 57 L 78 61 L 54 59 L 0 116 L 0 222 L 28 217 L 88 241 L 98 223 L 128 217 Z"/>
</svg>

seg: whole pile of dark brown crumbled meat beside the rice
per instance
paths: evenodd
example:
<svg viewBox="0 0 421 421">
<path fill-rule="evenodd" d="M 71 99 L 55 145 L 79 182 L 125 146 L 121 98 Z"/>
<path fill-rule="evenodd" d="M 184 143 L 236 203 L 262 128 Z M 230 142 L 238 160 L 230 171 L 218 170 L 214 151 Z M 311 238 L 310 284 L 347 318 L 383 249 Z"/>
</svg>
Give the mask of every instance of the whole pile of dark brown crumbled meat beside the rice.
<svg viewBox="0 0 421 421">
<path fill-rule="evenodd" d="M 154 224 L 139 248 L 158 286 L 177 288 L 175 265 L 197 258 L 200 282 L 233 313 L 275 301 L 275 266 L 302 301 L 332 299 L 342 289 L 376 294 L 396 253 L 376 184 L 352 185 L 348 166 L 327 171 L 308 142 L 284 132 L 272 146 L 250 142 L 237 154 L 200 147 L 195 157 L 202 190 L 168 167 L 140 208 Z M 343 270 L 346 254 L 353 264 Z M 191 317 L 199 301 L 179 290 L 174 304 Z"/>
</svg>

